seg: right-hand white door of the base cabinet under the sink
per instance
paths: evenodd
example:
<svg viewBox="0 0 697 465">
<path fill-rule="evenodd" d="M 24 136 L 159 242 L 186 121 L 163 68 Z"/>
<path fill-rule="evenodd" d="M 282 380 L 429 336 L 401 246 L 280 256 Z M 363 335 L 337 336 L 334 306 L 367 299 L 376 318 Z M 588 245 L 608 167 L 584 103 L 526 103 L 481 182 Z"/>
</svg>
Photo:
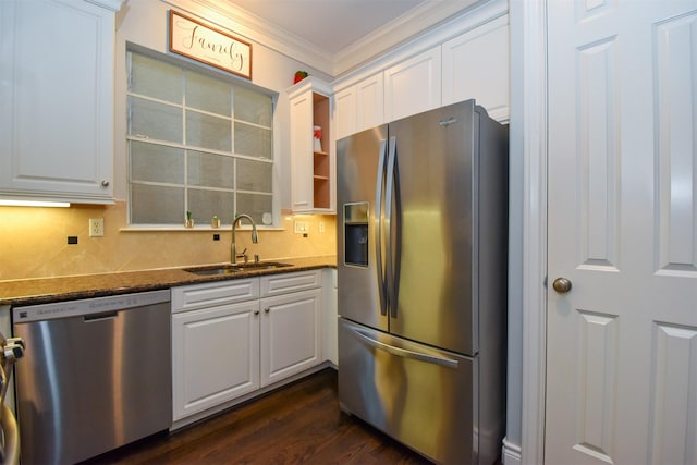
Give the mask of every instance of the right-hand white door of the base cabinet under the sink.
<svg viewBox="0 0 697 465">
<path fill-rule="evenodd" d="M 319 365 L 321 289 L 261 301 L 261 386 Z"/>
</svg>

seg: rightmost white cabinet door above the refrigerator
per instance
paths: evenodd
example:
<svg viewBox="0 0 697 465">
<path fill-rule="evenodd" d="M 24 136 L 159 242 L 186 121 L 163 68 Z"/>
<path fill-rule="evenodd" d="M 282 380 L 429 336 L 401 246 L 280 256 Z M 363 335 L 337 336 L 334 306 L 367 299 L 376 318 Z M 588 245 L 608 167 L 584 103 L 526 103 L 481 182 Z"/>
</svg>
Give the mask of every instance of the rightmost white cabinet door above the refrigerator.
<svg viewBox="0 0 697 465">
<path fill-rule="evenodd" d="M 470 98 L 498 121 L 509 120 L 509 16 L 442 46 L 443 105 Z"/>
</svg>

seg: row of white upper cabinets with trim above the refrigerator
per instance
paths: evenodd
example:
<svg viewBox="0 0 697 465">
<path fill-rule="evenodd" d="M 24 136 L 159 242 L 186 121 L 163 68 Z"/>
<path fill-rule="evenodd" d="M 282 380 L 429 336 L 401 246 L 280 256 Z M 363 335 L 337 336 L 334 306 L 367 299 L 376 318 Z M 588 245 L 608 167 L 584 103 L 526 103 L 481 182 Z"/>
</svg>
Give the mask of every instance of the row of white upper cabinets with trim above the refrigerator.
<svg viewBox="0 0 697 465">
<path fill-rule="evenodd" d="M 337 139 L 468 99 L 508 122 L 509 63 L 508 2 L 482 2 L 335 82 Z"/>
</svg>

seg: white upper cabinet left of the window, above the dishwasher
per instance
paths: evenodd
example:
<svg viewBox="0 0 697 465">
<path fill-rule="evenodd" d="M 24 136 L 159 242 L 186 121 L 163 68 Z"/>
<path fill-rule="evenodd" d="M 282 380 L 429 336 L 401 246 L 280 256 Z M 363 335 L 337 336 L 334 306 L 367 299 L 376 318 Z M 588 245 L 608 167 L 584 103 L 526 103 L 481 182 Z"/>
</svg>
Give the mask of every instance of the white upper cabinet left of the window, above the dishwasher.
<svg viewBox="0 0 697 465">
<path fill-rule="evenodd" d="M 0 1 L 0 197 L 113 203 L 120 3 Z"/>
</svg>

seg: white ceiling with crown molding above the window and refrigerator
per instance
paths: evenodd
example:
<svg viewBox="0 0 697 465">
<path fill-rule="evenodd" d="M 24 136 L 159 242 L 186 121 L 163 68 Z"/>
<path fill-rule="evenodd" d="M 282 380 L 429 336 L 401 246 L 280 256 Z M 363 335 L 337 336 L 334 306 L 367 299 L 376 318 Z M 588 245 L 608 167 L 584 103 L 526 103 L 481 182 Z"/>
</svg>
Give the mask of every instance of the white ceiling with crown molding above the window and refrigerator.
<svg viewBox="0 0 697 465">
<path fill-rule="evenodd" d="M 225 3 L 261 36 L 272 37 L 276 44 L 289 42 L 294 48 L 293 56 L 337 76 L 481 1 L 225 0 Z M 303 52 L 296 54 L 301 49 Z"/>
</svg>

